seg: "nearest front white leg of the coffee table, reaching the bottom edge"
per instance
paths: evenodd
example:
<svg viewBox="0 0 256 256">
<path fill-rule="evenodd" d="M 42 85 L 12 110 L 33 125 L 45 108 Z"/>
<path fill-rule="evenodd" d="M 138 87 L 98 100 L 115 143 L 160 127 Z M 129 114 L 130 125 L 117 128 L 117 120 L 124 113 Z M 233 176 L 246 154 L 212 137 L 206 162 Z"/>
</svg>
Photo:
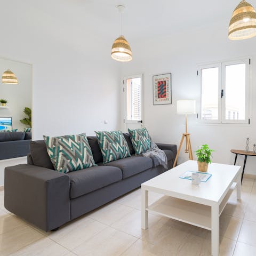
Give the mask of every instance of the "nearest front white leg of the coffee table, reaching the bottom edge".
<svg viewBox="0 0 256 256">
<path fill-rule="evenodd" d="M 212 205 L 212 256 L 218 256 L 220 250 L 219 205 Z"/>
</svg>

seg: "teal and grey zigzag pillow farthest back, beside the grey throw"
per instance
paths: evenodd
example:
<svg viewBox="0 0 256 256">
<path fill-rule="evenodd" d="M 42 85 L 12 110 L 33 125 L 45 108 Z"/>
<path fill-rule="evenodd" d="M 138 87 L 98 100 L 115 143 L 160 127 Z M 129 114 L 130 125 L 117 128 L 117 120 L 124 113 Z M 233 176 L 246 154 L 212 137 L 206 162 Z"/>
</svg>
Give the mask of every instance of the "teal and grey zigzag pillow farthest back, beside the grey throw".
<svg viewBox="0 0 256 256">
<path fill-rule="evenodd" d="M 131 130 L 128 129 L 132 140 L 135 154 L 139 155 L 146 152 L 151 147 L 151 138 L 146 128 Z"/>
</svg>

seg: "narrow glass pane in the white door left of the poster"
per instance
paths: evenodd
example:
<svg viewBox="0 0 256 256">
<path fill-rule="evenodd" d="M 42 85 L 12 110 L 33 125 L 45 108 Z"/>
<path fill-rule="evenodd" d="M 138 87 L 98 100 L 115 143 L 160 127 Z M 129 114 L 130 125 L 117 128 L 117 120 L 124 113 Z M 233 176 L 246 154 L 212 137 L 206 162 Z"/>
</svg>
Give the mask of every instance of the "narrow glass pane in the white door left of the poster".
<svg viewBox="0 0 256 256">
<path fill-rule="evenodd" d="M 127 88 L 127 120 L 141 120 L 141 78 L 126 80 Z"/>
</svg>

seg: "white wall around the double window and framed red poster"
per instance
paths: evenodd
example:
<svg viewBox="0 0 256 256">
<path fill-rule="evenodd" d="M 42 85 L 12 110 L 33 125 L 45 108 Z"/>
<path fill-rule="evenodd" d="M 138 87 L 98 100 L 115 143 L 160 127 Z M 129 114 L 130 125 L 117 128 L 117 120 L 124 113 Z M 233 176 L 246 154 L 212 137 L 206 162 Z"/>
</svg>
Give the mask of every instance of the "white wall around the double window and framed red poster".
<svg viewBox="0 0 256 256">
<path fill-rule="evenodd" d="M 156 142 L 179 144 L 185 131 L 184 117 L 176 113 L 178 99 L 200 99 L 200 84 L 196 75 L 197 64 L 237 57 L 252 58 L 252 91 L 255 99 L 256 76 L 256 38 L 245 41 L 229 41 L 228 25 L 219 23 L 211 27 L 200 28 L 166 38 L 133 44 L 133 61 L 122 68 L 122 76 L 144 74 L 144 111 L 145 127 Z M 152 76 L 172 73 L 172 105 L 153 106 Z M 122 97 L 121 93 L 121 97 Z M 256 102 L 252 101 L 251 124 L 198 124 L 196 116 L 188 117 L 188 131 L 191 133 L 193 151 L 203 143 L 215 149 L 213 162 L 234 163 L 230 149 L 244 149 L 245 138 L 250 134 L 251 143 L 256 143 Z M 121 115 L 122 118 L 122 115 Z M 188 155 L 181 154 L 179 163 L 186 161 Z M 243 164 L 238 157 L 237 164 Z M 246 172 L 256 174 L 256 157 L 248 157 Z"/>
</svg>

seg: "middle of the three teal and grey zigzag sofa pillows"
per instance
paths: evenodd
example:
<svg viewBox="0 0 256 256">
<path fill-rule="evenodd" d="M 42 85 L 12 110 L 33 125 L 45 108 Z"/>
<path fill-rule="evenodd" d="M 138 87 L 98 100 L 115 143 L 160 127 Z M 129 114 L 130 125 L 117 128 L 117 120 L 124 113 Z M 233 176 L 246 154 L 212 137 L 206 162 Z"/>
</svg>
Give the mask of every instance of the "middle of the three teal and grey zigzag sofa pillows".
<svg viewBox="0 0 256 256">
<path fill-rule="evenodd" d="M 95 133 L 99 142 L 104 164 L 131 156 L 127 141 L 121 131 Z"/>
</svg>

